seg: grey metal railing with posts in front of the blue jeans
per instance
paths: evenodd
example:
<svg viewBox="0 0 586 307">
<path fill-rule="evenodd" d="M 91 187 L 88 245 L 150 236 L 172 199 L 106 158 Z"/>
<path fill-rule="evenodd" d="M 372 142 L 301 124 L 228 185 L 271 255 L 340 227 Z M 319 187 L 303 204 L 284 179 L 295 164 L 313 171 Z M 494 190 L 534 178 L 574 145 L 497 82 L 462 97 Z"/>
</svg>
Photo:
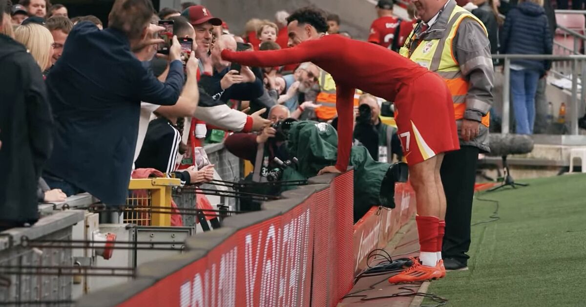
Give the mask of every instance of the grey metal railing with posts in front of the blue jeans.
<svg viewBox="0 0 586 307">
<path fill-rule="evenodd" d="M 493 54 L 493 58 L 499 58 L 504 61 L 504 79 L 503 79 L 503 111 L 502 111 L 502 131 L 501 133 L 509 133 L 510 120 L 510 63 L 511 60 L 551 60 L 551 61 L 570 61 L 571 62 L 571 103 L 570 109 L 570 134 L 578 135 L 578 115 L 583 112 L 580 107 L 583 104 L 578 104 L 578 78 L 581 83 L 581 101 L 584 101 L 586 96 L 586 55 L 570 55 L 570 56 L 553 56 L 550 54 Z"/>
</svg>

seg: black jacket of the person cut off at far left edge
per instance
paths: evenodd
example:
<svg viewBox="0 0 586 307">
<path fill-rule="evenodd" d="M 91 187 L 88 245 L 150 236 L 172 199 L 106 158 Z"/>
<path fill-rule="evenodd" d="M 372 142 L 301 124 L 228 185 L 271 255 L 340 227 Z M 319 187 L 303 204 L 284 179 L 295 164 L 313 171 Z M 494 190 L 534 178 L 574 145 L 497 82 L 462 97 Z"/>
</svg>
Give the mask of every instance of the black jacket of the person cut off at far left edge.
<svg viewBox="0 0 586 307">
<path fill-rule="evenodd" d="M 0 35 L 0 223 L 39 219 L 37 184 L 51 151 L 53 120 L 39 65 Z"/>
</svg>

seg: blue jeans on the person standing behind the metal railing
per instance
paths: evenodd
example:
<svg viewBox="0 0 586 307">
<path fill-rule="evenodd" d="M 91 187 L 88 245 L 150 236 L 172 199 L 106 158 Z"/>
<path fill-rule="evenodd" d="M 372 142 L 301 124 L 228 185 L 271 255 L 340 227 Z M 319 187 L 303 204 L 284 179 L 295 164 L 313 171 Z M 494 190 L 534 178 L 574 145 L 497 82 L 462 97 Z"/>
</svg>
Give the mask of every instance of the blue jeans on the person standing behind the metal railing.
<svg viewBox="0 0 586 307">
<path fill-rule="evenodd" d="M 537 70 L 511 70 L 511 93 L 513 94 L 513 111 L 515 112 L 516 133 L 533 134 L 535 123 L 535 93 Z"/>
</svg>

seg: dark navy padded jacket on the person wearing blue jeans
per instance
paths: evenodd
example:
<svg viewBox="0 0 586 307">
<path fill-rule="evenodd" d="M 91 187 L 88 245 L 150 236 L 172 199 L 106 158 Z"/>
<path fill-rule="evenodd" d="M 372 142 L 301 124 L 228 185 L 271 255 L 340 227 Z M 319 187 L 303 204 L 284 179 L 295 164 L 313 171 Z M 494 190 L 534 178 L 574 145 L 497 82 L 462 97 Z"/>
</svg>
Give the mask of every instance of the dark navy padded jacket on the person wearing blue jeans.
<svg viewBox="0 0 586 307">
<path fill-rule="evenodd" d="M 523 2 L 510 9 L 500 35 L 500 53 L 503 54 L 551 54 L 553 38 L 543 7 Z M 544 73 L 551 61 L 514 60 L 512 64 Z"/>
</svg>

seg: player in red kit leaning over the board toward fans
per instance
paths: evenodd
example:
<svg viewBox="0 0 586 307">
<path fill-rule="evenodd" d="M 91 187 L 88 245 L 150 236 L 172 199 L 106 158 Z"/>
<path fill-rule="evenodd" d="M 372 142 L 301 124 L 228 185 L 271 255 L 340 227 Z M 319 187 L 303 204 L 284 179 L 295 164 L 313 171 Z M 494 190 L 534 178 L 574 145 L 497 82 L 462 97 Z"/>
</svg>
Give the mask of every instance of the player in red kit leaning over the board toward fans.
<svg viewBox="0 0 586 307">
<path fill-rule="evenodd" d="M 287 19 L 288 49 L 234 52 L 222 57 L 243 65 L 280 66 L 311 61 L 336 82 L 338 111 L 338 161 L 319 173 L 346 171 L 352 147 L 355 89 L 394 101 L 398 135 L 409 165 L 417 198 L 417 228 L 421 253 L 411 268 L 391 277 L 391 282 L 441 278 L 445 269 L 441 251 L 440 210 L 445 210 L 440 167 L 444 153 L 459 149 L 452 96 L 444 80 L 427 68 L 376 44 L 325 35 L 323 12 L 302 8 Z"/>
</svg>

